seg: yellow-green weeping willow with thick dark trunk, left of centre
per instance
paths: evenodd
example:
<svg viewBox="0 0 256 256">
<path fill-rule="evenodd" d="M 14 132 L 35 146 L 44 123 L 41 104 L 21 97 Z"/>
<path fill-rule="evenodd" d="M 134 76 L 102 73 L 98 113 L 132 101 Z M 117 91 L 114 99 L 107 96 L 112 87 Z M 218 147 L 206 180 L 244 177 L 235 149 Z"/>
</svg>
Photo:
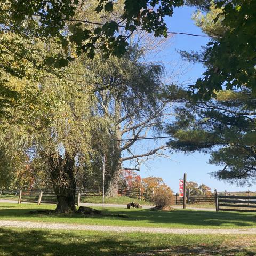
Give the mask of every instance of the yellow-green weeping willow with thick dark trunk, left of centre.
<svg viewBox="0 0 256 256">
<path fill-rule="evenodd" d="M 77 61 L 67 72 L 86 74 L 86 71 Z M 38 96 L 38 101 L 34 102 L 31 115 L 25 115 L 23 124 L 14 122 L 11 129 L 3 133 L 3 142 L 9 137 L 17 141 L 13 151 L 40 159 L 45 177 L 50 179 L 57 196 L 55 212 L 58 213 L 75 210 L 75 190 L 81 166 L 90 168 L 97 155 L 93 143 L 100 144 L 108 137 L 109 124 L 96 113 L 95 84 L 81 80 L 78 75 L 72 77 L 49 76 L 44 71 L 37 81 L 23 79 L 20 91 L 31 84 L 30 90 Z M 17 83 L 17 79 L 9 83 Z M 25 114 L 19 107 L 12 111 L 17 119 Z M 9 143 L 8 147 L 14 145 Z"/>
</svg>

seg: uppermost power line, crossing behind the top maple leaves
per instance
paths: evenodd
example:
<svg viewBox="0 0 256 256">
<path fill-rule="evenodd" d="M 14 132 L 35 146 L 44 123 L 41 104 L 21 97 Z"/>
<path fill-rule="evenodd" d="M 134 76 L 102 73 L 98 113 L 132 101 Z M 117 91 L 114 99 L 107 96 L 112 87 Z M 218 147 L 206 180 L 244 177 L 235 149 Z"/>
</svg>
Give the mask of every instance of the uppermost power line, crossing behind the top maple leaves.
<svg viewBox="0 0 256 256">
<path fill-rule="evenodd" d="M 6 10 L 6 9 L 0 9 L 0 11 L 11 12 L 11 13 L 20 13 L 20 14 L 26 15 L 26 13 L 12 11 L 12 10 Z M 32 16 L 42 17 L 42 15 L 40 15 L 40 14 L 33 14 Z M 83 23 L 87 23 L 87 24 L 91 24 L 91 25 L 99 25 L 99 26 L 105 25 L 105 23 L 92 22 L 92 21 L 88 21 L 88 20 L 77 20 L 77 19 L 61 19 L 61 20 L 71 21 L 71 22 L 83 22 Z M 123 25 L 118 25 L 118 27 L 126 28 L 126 26 L 123 26 Z M 142 28 L 136 28 L 136 30 L 146 31 L 145 29 L 142 29 Z M 187 36 L 209 37 L 207 35 L 198 35 L 198 34 L 192 34 L 192 33 L 186 33 L 186 32 L 176 32 L 176 31 L 167 31 L 167 34 L 180 34 L 180 35 L 187 35 Z M 221 38 L 220 36 L 211 36 L 211 37 Z"/>
</svg>

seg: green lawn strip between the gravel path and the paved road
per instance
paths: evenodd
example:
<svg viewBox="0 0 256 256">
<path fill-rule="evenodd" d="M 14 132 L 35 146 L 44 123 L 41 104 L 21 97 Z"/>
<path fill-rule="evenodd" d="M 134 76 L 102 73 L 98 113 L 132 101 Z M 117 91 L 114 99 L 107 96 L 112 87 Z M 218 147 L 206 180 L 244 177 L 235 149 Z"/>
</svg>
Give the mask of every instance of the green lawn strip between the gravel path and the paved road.
<svg viewBox="0 0 256 256">
<path fill-rule="evenodd" d="M 104 209 L 110 214 L 125 214 L 128 218 L 97 215 L 30 214 L 36 209 L 54 209 L 54 205 L 0 204 L 1 220 L 44 221 L 87 225 L 164 227 L 164 228 L 252 228 L 256 227 L 255 213 L 211 212 L 196 210 L 150 211 L 148 209 Z M 101 209 L 101 207 L 97 207 Z"/>
</svg>

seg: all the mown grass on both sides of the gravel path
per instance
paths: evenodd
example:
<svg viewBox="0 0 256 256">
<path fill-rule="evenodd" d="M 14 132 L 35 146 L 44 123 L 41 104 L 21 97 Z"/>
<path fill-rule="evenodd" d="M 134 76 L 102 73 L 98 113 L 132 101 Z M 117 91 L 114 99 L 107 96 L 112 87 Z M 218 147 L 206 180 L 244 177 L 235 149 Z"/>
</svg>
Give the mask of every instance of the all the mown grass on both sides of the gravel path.
<svg viewBox="0 0 256 256">
<path fill-rule="evenodd" d="M 107 226 L 230 229 L 256 227 L 256 214 L 148 209 L 103 209 L 112 216 L 78 214 L 31 214 L 31 210 L 54 209 L 54 205 L 0 204 L 1 220 L 73 223 Z M 98 209 L 101 209 L 100 207 Z M 102 209 L 101 209 L 102 210 Z M 39 225 L 39 223 L 38 223 Z M 181 231 L 182 232 L 182 231 Z M 256 255 L 254 235 L 117 233 L 67 231 L 39 228 L 0 228 L 1 256 L 82 256 L 82 255 Z"/>
</svg>

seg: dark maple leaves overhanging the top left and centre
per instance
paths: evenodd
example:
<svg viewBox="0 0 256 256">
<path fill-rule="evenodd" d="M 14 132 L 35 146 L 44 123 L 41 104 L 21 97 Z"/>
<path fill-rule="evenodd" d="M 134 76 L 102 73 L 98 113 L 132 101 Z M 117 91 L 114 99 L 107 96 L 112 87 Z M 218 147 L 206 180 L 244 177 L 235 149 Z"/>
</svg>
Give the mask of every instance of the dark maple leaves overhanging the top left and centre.
<svg viewBox="0 0 256 256">
<path fill-rule="evenodd" d="M 167 37 L 167 26 L 164 17 L 173 14 L 173 8 L 182 6 L 183 0 L 125 0 L 123 9 L 119 9 L 119 5 L 115 1 L 99 0 L 98 6 L 95 8 L 95 14 L 105 12 L 98 17 L 104 18 L 104 21 L 94 19 L 93 13 L 83 20 L 76 20 L 77 13 L 83 8 L 91 8 L 82 1 L 30 1 L 29 6 L 26 2 L 18 3 L 11 0 L 8 3 L 0 0 L 0 5 L 4 5 L 1 12 L 2 17 L 0 23 L 4 27 L 9 27 L 10 31 L 20 36 L 28 36 L 31 42 L 34 38 L 43 38 L 46 41 L 50 38 L 58 38 L 66 56 L 63 59 L 55 61 L 55 67 L 66 66 L 69 48 L 75 44 L 76 55 L 83 53 L 90 58 L 94 57 L 95 49 L 100 47 L 106 56 L 111 54 L 120 57 L 127 50 L 126 41 L 129 35 L 133 33 L 138 26 L 154 33 L 155 36 Z M 6 8 L 11 15 L 6 15 Z M 82 8 L 82 9 L 83 9 Z M 125 27 L 127 33 L 123 36 L 119 33 L 119 24 L 116 20 L 108 20 L 113 17 L 106 13 L 119 12 L 122 18 L 122 26 Z M 37 17 L 35 19 L 35 17 Z M 106 21 L 108 20 L 108 21 Z M 74 44 L 73 44 L 74 43 Z M 59 54 L 59 53 L 57 53 Z M 53 57 L 55 58 L 55 57 Z M 45 60 L 45 63 L 52 65 L 53 58 Z M 57 58 L 58 59 L 58 58 Z M 56 64 L 58 63 L 58 64 Z"/>
</svg>

